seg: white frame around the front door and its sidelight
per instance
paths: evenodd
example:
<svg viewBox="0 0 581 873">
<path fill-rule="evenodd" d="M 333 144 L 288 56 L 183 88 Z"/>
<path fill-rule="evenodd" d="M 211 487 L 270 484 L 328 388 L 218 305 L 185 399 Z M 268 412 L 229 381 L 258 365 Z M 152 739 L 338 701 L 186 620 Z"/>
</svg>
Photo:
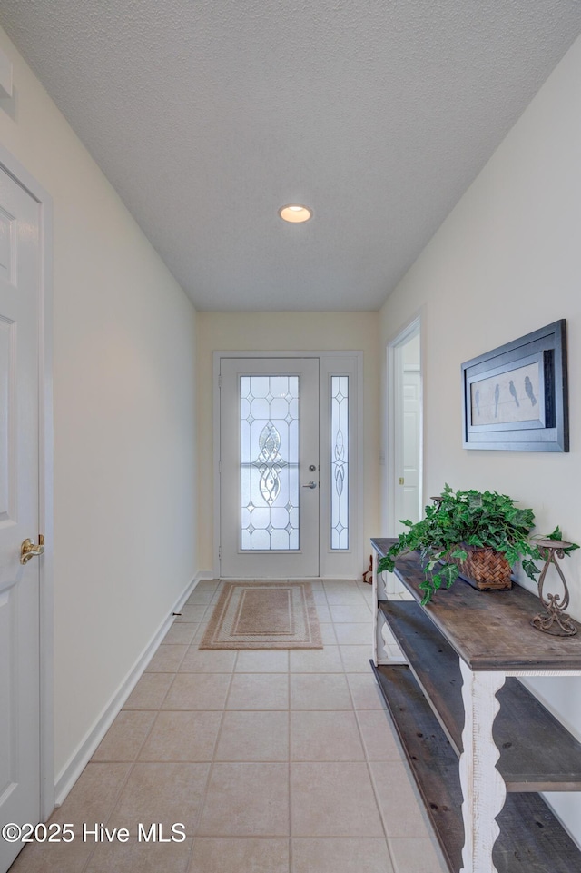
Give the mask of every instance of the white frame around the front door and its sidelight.
<svg viewBox="0 0 581 873">
<path fill-rule="evenodd" d="M 355 491 L 355 506 L 356 506 L 356 524 L 355 530 L 353 531 L 353 536 L 355 539 L 355 546 L 353 547 L 353 552 L 355 554 L 355 564 L 356 566 L 363 566 L 363 542 L 362 542 L 362 531 L 363 531 L 363 476 L 364 476 L 364 466 L 363 466 L 363 352 L 360 351 L 350 351 L 350 350 L 341 350 L 341 351 L 320 351 L 316 349 L 304 349 L 300 352 L 287 352 L 287 351 L 268 351 L 264 352 L 261 350 L 258 351 L 231 351 L 231 350 L 219 350 L 212 352 L 212 432 L 213 432 L 213 481 L 214 481 L 214 494 L 213 494 L 213 575 L 215 579 L 218 579 L 220 576 L 220 519 L 221 519 L 221 506 L 220 506 L 220 392 L 219 392 L 219 381 L 220 381 L 220 365 L 222 358 L 319 358 L 320 360 L 324 360 L 327 358 L 350 358 L 355 359 L 357 361 L 357 404 L 353 409 L 353 414 L 356 417 L 355 422 L 355 432 L 356 432 L 356 446 L 355 446 L 355 457 L 357 459 L 357 489 Z M 320 538 L 321 539 L 321 538 Z M 322 544 L 320 541 L 320 551 L 322 550 Z M 319 570 L 321 572 L 322 562 L 321 562 L 321 554 L 320 554 L 320 567 Z M 357 575 L 359 576 L 359 570 L 357 570 Z M 324 578 L 324 577 L 323 577 Z M 340 578 L 336 574 L 332 575 L 332 578 Z M 346 577 L 347 578 L 347 577 Z M 349 576 L 350 579 L 353 578 L 352 575 Z"/>
</svg>

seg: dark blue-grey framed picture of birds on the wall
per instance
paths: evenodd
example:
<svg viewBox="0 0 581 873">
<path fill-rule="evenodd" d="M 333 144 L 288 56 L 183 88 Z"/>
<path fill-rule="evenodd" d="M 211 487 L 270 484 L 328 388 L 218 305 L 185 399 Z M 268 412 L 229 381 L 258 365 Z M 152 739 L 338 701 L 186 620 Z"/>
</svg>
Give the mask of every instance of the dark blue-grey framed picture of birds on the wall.
<svg viewBox="0 0 581 873">
<path fill-rule="evenodd" d="M 465 449 L 569 451 L 566 319 L 462 364 Z"/>
</svg>

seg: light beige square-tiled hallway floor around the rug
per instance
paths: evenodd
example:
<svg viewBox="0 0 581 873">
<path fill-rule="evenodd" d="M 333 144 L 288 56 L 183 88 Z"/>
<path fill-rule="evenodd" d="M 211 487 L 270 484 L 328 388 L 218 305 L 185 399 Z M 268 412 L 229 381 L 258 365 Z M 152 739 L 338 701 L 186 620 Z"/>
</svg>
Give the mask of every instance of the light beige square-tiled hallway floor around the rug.
<svg viewBox="0 0 581 873">
<path fill-rule="evenodd" d="M 193 591 L 55 810 L 74 842 L 10 873 L 444 873 L 369 667 L 370 586 L 313 582 L 323 650 L 199 651 L 219 589 Z"/>
</svg>

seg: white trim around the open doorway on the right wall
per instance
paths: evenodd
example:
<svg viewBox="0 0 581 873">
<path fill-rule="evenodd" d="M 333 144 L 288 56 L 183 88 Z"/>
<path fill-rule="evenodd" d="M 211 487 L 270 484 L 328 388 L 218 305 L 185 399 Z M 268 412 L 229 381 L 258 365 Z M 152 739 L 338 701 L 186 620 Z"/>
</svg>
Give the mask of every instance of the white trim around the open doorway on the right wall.
<svg viewBox="0 0 581 873">
<path fill-rule="evenodd" d="M 397 458 L 396 458 L 396 406 L 399 398 L 399 386 L 397 383 L 397 369 L 399 349 L 409 340 L 419 334 L 419 502 L 423 503 L 424 493 L 424 332 L 422 331 L 422 313 L 414 315 L 412 319 L 403 327 L 387 345 L 387 403 L 386 403 L 386 529 L 387 536 L 396 536 L 396 489 L 398 488 L 397 479 Z"/>
</svg>

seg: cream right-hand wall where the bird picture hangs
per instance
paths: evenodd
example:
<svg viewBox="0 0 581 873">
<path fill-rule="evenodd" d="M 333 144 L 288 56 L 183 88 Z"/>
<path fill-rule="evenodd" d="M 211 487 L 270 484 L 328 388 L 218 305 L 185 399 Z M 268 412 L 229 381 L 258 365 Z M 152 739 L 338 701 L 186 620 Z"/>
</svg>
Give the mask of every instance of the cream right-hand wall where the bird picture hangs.
<svg viewBox="0 0 581 873">
<path fill-rule="evenodd" d="M 507 493 L 581 542 L 581 41 L 556 68 L 381 311 L 381 345 L 421 312 L 425 494 Z M 566 318 L 571 451 L 467 451 L 460 363 Z M 384 382 L 385 383 L 385 382 Z M 384 393 L 384 392 L 383 392 Z M 385 509 L 384 509 L 385 511 Z M 384 525 L 385 525 L 384 515 Z M 566 560 L 581 620 L 581 558 Z M 581 738 L 581 680 L 535 687 Z M 551 802 L 581 844 L 581 795 Z"/>
</svg>

